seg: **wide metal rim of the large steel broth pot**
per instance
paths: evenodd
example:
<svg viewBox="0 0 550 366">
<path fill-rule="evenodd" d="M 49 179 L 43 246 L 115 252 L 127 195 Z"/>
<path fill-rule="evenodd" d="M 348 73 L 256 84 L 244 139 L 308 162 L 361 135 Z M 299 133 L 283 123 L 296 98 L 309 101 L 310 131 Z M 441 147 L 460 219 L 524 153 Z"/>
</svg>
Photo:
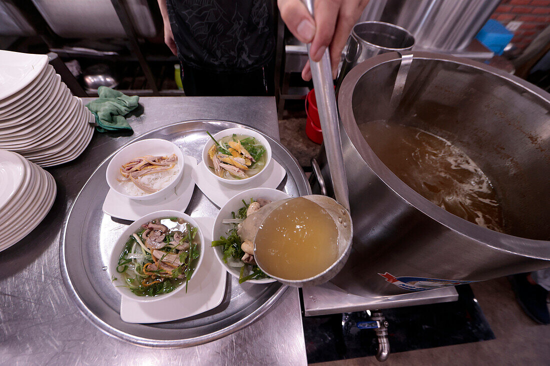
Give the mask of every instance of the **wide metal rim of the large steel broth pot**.
<svg viewBox="0 0 550 366">
<path fill-rule="evenodd" d="M 386 165 L 382 163 L 382 160 L 376 156 L 375 152 L 367 144 L 359 130 L 359 126 L 357 125 L 353 114 L 351 101 L 355 86 L 361 77 L 367 73 L 367 71 L 370 71 L 376 66 L 388 62 L 394 62 L 400 58 L 399 53 L 389 52 L 367 59 L 365 62 L 362 62 L 351 69 L 348 75 L 344 78 L 342 86 L 340 86 L 338 95 L 338 110 L 340 121 L 343 125 L 343 130 L 348 135 L 353 147 L 367 164 L 368 168 L 371 169 L 390 190 L 394 191 L 399 197 L 404 199 L 405 202 L 409 203 L 412 207 L 427 215 L 432 220 L 437 221 L 437 223 L 446 226 L 450 230 L 470 237 L 471 239 L 484 243 L 485 245 L 491 246 L 499 251 L 519 254 L 530 258 L 550 260 L 550 241 L 526 239 L 509 234 L 503 234 L 502 232 L 493 231 L 474 223 L 470 223 L 470 221 L 447 212 L 443 208 L 424 198 L 422 195 L 401 181 L 397 175 L 395 175 L 388 167 L 386 167 Z M 543 99 L 550 105 L 549 93 L 525 80 L 520 79 L 519 77 L 510 75 L 505 71 L 493 68 L 492 66 L 465 58 L 422 51 L 414 52 L 413 59 L 450 62 L 485 71 L 486 73 L 518 85 L 526 92 Z M 541 256 L 541 253 L 544 254 Z"/>
</svg>

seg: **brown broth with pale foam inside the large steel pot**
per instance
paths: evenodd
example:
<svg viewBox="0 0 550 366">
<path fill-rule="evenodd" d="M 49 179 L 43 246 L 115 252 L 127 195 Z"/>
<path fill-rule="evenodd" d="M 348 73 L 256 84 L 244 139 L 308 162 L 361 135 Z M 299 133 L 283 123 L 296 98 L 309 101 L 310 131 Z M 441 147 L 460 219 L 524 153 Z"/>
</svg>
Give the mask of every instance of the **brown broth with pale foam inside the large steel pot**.
<svg viewBox="0 0 550 366">
<path fill-rule="evenodd" d="M 430 132 L 386 121 L 361 124 L 359 130 L 378 158 L 424 198 L 471 223 L 504 232 L 493 185 L 464 151 Z"/>
</svg>

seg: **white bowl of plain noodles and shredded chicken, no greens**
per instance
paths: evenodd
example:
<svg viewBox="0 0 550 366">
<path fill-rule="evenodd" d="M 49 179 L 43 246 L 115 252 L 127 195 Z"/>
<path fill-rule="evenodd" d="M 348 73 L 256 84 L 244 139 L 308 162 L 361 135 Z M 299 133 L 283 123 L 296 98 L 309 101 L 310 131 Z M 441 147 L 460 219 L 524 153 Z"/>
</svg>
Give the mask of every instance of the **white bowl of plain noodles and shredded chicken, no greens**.
<svg viewBox="0 0 550 366">
<path fill-rule="evenodd" d="M 111 189 L 130 199 L 161 198 L 173 193 L 183 175 L 184 157 L 174 143 L 150 138 L 131 143 L 107 165 Z"/>
</svg>

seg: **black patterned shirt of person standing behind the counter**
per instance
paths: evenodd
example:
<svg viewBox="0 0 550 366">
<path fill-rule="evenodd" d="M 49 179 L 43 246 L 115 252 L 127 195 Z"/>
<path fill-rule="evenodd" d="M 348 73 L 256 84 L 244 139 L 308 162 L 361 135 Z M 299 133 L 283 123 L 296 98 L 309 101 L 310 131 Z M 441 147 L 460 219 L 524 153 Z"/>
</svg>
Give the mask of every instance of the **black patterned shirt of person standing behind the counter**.
<svg viewBox="0 0 550 366">
<path fill-rule="evenodd" d="M 194 68 L 245 73 L 274 54 L 271 0 L 167 0 L 178 57 Z"/>
</svg>

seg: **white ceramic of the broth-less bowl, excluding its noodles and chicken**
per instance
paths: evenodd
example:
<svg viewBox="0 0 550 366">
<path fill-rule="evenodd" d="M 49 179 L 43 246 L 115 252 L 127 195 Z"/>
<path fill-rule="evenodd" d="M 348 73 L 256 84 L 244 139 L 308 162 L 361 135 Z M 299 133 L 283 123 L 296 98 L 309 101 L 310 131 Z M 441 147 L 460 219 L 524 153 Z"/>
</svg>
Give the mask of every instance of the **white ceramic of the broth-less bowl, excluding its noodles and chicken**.
<svg viewBox="0 0 550 366">
<path fill-rule="evenodd" d="M 170 182 L 169 185 L 162 188 L 162 190 L 158 190 L 157 192 L 149 193 L 149 195 L 143 195 L 143 196 L 130 196 L 124 193 L 120 189 L 119 182 L 117 181 L 117 177 L 120 176 L 120 166 L 122 164 L 128 163 L 131 159 L 140 157 L 140 156 L 146 156 L 146 155 L 156 155 L 156 156 L 170 156 L 172 154 L 175 154 L 178 157 L 178 174 L 175 176 L 174 180 Z M 119 152 L 117 152 L 111 161 L 109 162 L 109 165 L 107 165 L 107 171 L 106 171 L 106 178 L 107 178 L 107 184 L 111 189 L 115 192 L 117 192 L 120 196 L 124 196 L 130 199 L 153 199 L 153 198 L 159 198 L 164 196 L 169 190 L 173 190 L 175 185 L 178 184 L 179 180 L 182 179 L 183 175 L 183 153 L 180 150 L 180 148 L 175 145 L 174 143 L 166 140 L 162 140 L 161 138 L 149 138 L 148 140 L 141 140 L 138 142 L 134 142 L 126 147 L 123 147 L 120 149 Z"/>
</svg>

